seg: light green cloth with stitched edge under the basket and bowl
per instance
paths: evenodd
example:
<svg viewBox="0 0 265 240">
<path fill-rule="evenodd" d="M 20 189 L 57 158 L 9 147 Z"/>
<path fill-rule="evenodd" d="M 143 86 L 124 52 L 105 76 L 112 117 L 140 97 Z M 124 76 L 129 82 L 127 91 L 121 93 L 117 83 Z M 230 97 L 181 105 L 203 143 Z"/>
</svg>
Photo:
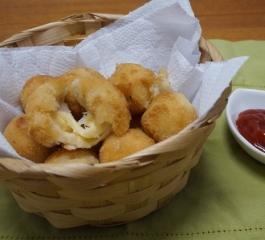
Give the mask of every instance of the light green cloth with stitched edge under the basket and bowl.
<svg viewBox="0 0 265 240">
<path fill-rule="evenodd" d="M 265 41 L 211 42 L 224 59 L 250 56 L 233 89 L 265 88 Z M 56 229 L 0 188 L 0 239 L 265 239 L 264 199 L 265 165 L 236 143 L 224 112 L 187 186 L 161 209 L 117 227 Z"/>
</svg>

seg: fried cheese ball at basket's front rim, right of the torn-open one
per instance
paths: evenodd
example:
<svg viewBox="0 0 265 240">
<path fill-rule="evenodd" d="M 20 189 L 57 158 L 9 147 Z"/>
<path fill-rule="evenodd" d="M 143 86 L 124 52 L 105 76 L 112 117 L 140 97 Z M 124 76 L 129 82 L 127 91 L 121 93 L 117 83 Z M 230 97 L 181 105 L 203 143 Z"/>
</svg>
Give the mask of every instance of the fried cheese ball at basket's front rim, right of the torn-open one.
<svg viewBox="0 0 265 240">
<path fill-rule="evenodd" d="M 112 133 L 103 141 L 99 150 L 99 162 L 118 161 L 154 144 L 154 140 L 138 128 L 129 129 L 121 137 Z"/>
</svg>

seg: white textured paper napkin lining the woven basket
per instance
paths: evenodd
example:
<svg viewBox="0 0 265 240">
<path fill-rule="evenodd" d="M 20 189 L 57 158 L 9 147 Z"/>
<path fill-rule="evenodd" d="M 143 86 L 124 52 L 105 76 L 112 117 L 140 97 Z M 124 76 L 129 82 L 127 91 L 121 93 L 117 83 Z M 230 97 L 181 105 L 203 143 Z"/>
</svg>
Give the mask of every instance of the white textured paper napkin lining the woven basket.
<svg viewBox="0 0 265 240">
<path fill-rule="evenodd" d="M 188 0 L 153 0 L 71 47 L 0 50 L 0 156 L 21 158 L 3 137 L 22 109 L 19 95 L 31 76 L 60 75 L 85 66 L 109 77 L 117 63 L 133 62 L 157 72 L 166 67 L 175 91 L 183 92 L 199 118 L 214 105 L 246 61 L 198 64 L 201 27 Z"/>
</svg>

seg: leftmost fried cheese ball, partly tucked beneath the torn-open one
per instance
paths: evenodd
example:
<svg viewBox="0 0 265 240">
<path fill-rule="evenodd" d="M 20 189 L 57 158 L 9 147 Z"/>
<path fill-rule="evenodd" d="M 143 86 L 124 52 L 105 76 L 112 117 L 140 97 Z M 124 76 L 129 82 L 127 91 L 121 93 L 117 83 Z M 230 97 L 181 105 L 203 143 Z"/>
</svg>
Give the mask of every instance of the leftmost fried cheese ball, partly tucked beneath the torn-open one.
<svg viewBox="0 0 265 240">
<path fill-rule="evenodd" d="M 35 163 L 43 163 L 55 150 L 42 146 L 27 134 L 25 114 L 13 118 L 5 128 L 3 135 L 20 156 Z"/>
</svg>

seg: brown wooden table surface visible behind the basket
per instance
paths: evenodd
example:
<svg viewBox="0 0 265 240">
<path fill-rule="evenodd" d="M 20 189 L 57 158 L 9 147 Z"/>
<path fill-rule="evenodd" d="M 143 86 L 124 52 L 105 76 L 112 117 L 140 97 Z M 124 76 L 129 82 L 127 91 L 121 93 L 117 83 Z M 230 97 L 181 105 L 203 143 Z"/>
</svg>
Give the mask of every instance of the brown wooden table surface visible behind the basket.
<svg viewBox="0 0 265 240">
<path fill-rule="evenodd" d="M 20 31 L 57 21 L 74 13 L 127 14 L 147 0 L 1 0 L 0 42 Z M 208 39 L 265 40 L 265 1 L 190 0 Z"/>
</svg>

